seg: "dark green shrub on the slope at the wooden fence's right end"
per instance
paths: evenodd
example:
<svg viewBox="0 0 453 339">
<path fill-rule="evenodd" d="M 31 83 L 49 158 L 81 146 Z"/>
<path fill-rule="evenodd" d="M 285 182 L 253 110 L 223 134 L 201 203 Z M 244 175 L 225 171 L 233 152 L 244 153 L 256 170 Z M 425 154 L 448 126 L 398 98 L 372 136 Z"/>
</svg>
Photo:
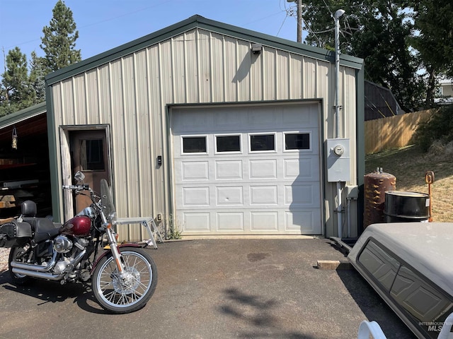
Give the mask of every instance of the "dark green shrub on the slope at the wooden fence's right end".
<svg viewBox="0 0 453 339">
<path fill-rule="evenodd" d="M 415 131 L 415 144 L 428 152 L 435 141 L 444 145 L 453 141 L 453 105 L 435 109 L 430 119 L 420 123 Z"/>
</svg>

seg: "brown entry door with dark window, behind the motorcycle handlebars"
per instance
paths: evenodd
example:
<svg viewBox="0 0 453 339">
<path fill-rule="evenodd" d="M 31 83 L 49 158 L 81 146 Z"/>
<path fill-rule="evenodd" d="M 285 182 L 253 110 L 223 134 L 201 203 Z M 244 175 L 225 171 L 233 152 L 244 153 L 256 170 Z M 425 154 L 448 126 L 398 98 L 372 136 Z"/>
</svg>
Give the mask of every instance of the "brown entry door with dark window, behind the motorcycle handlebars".
<svg viewBox="0 0 453 339">
<path fill-rule="evenodd" d="M 105 130 L 71 131 L 72 177 L 77 171 L 85 174 L 84 183 L 101 195 L 101 179 L 110 184 L 110 162 Z M 76 196 L 76 213 L 91 204 L 88 196 Z"/>
</svg>

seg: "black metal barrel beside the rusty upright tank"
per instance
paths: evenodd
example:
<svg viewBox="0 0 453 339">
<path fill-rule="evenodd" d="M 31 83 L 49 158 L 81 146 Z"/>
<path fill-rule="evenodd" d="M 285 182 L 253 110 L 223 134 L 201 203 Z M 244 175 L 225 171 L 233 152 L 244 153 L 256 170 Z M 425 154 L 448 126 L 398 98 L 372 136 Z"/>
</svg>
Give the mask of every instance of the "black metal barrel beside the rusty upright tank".
<svg viewBox="0 0 453 339">
<path fill-rule="evenodd" d="M 418 192 L 386 191 L 385 222 L 428 222 L 430 196 Z"/>
</svg>

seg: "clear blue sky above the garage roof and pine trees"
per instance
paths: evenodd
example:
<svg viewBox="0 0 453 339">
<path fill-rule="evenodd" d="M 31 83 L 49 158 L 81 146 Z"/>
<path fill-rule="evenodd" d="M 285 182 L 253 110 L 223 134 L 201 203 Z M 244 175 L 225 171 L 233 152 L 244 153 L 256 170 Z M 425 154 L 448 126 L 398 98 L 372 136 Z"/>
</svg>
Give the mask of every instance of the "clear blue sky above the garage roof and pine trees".
<svg viewBox="0 0 453 339">
<path fill-rule="evenodd" d="M 19 47 L 30 60 L 40 49 L 57 0 L 0 0 L 0 73 L 4 53 Z M 198 14 L 222 23 L 297 40 L 295 3 L 287 0 L 65 0 L 79 30 L 82 59 Z M 289 9 L 294 15 L 289 16 Z M 3 53 L 4 50 L 4 53 Z"/>
</svg>

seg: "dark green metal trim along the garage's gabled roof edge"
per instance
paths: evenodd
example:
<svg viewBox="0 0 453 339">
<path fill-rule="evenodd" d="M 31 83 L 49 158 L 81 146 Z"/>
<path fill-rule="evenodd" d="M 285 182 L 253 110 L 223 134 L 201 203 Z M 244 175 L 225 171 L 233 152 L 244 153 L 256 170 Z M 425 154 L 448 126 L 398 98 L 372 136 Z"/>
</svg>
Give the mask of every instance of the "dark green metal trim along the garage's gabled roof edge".
<svg viewBox="0 0 453 339">
<path fill-rule="evenodd" d="M 204 30 L 217 32 L 219 34 L 237 37 L 242 40 L 260 43 L 264 46 L 282 49 L 296 54 L 302 54 L 306 57 L 335 62 L 335 53 L 326 49 L 309 46 L 307 44 L 301 44 L 299 42 L 282 39 L 280 37 L 273 37 L 272 35 L 255 32 L 253 30 L 246 30 L 234 25 L 220 23 L 218 21 L 195 15 L 191 16 L 188 19 L 180 21 L 179 23 L 168 26 L 167 28 L 164 28 L 162 30 L 158 30 L 144 37 L 140 37 L 137 40 L 128 42 L 127 44 L 122 44 L 119 47 L 110 49 L 107 52 L 103 52 L 94 57 L 80 61 L 77 64 L 73 64 L 71 66 L 65 67 L 64 69 L 59 69 L 58 71 L 47 74 L 47 76 L 45 77 L 46 83 L 47 85 L 52 85 L 53 83 L 62 81 L 66 78 L 69 78 L 70 76 L 74 76 L 81 72 L 87 71 L 88 69 L 93 69 L 109 61 L 113 61 L 127 54 L 136 52 L 139 49 L 144 49 L 151 46 L 152 44 L 156 44 L 173 36 L 180 35 L 183 32 L 192 30 L 193 28 L 202 28 Z M 351 67 L 353 69 L 362 69 L 363 60 L 360 58 L 351 57 L 346 54 L 341 54 L 340 64 L 342 64 L 343 66 Z"/>
</svg>

